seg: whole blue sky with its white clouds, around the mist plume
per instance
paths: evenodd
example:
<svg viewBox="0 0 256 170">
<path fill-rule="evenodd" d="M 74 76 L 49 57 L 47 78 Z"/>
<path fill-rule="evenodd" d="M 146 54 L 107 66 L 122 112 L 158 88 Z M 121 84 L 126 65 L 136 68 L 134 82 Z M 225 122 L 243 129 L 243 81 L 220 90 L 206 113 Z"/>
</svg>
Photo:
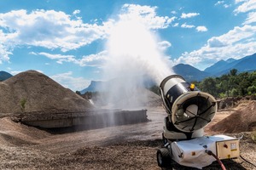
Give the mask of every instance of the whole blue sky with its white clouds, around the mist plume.
<svg viewBox="0 0 256 170">
<path fill-rule="evenodd" d="M 255 0 L 0 0 L 1 70 L 36 70 L 82 90 L 102 80 L 109 34 L 131 18 L 173 65 L 204 70 L 256 53 Z"/>
</svg>

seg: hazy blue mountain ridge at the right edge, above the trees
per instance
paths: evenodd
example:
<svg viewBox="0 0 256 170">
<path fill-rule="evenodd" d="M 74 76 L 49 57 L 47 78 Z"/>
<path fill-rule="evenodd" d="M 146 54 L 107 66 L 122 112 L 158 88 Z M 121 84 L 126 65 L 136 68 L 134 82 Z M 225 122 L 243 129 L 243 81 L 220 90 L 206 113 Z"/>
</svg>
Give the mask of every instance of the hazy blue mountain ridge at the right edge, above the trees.
<svg viewBox="0 0 256 170">
<path fill-rule="evenodd" d="M 236 69 L 238 72 L 256 71 L 256 54 L 246 56 L 241 59 L 227 59 L 226 61 L 220 60 L 214 65 L 205 69 L 206 72 L 212 76 L 220 77 Z"/>
</svg>

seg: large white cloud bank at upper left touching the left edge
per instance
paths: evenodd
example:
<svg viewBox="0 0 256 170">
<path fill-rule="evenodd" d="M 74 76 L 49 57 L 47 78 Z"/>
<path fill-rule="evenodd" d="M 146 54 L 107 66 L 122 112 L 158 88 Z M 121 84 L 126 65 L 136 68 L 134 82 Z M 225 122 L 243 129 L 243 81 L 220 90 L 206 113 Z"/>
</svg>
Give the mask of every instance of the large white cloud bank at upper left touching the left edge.
<svg viewBox="0 0 256 170">
<path fill-rule="evenodd" d="M 78 14 L 76 11 L 75 14 Z M 0 14 L 1 60 L 8 59 L 16 46 L 27 45 L 66 52 L 106 37 L 111 21 L 84 24 L 82 20 L 54 10 L 13 10 Z"/>
</svg>

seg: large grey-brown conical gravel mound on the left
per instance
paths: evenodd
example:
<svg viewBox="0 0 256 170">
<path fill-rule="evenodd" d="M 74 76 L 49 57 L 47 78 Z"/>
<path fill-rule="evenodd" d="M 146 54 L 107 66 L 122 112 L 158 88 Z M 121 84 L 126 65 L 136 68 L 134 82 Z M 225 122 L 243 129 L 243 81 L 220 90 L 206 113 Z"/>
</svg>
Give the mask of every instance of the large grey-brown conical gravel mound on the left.
<svg viewBox="0 0 256 170">
<path fill-rule="evenodd" d="M 87 100 L 38 71 L 25 71 L 0 82 L 0 112 L 86 111 Z"/>
</svg>

